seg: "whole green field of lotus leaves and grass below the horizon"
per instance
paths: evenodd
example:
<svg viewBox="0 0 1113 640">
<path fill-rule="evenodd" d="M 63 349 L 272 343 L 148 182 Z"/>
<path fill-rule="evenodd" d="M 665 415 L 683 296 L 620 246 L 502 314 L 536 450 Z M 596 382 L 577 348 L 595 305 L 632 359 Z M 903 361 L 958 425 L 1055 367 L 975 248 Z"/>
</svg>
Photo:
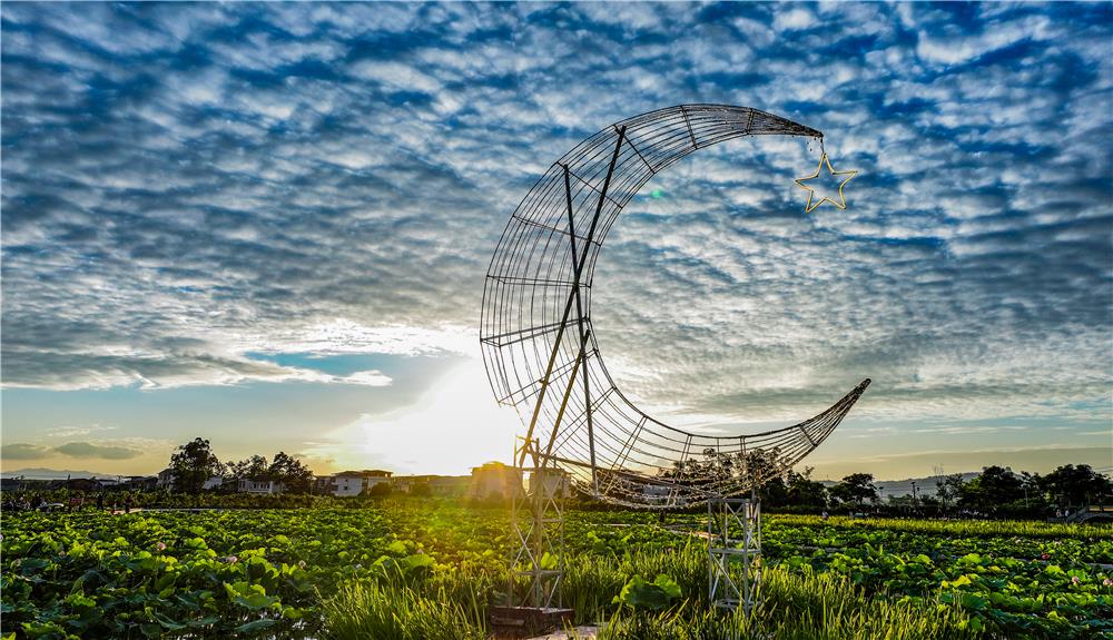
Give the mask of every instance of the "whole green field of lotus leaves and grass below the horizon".
<svg viewBox="0 0 1113 640">
<path fill-rule="evenodd" d="M 702 518 L 666 525 L 568 514 L 578 621 L 630 639 L 1113 638 L 1110 526 L 766 515 L 745 618 L 708 611 L 687 533 Z M 2 533 L 3 638 L 483 638 L 511 544 L 506 510 L 430 500 L 18 513 Z"/>
</svg>

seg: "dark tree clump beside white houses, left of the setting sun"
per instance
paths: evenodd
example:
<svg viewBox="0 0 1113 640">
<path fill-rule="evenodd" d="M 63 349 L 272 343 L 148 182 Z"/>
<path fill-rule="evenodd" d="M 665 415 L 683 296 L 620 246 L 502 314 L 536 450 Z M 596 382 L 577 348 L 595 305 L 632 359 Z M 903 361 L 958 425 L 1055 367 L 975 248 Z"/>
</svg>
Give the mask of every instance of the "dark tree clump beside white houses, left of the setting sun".
<svg viewBox="0 0 1113 640">
<path fill-rule="evenodd" d="M 269 461 L 253 455 L 238 462 L 221 463 L 213 453 L 209 441 L 196 437 L 178 446 L 170 455 L 169 471 L 174 488 L 183 493 L 200 493 L 210 477 L 224 482 L 253 480 L 280 482 L 286 493 L 308 493 L 313 488 L 313 471 L 302 461 L 279 451 Z"/>
</svg>

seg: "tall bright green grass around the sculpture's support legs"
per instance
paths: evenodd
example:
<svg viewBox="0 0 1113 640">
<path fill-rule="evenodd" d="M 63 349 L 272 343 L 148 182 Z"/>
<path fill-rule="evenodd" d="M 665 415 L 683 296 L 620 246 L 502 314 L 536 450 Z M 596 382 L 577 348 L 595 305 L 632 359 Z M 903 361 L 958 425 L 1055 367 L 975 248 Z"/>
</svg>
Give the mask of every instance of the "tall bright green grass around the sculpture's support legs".
<svg viewBox="0 0 1113 640">
<path fill-rule="evenodd" d="M 683 599 L 663 612 L 621 609 L 612 601 L 633 577 L 670 575 Z M 324 604 L 332 640 L 484 638 L 486 608 L 505 575 L 457 571 L 410 582 L 355 582 Z M 764 599 L 750 616 L 711 611 L 701 544 L 623 558 L 570 555 L 562 591 L 577 623 L 605 620 L 600 640 L 934 640 L 976 638 L 969 620 L 929 600 L 866 597 L 846 580 L 809 570 L 767 569 Z"/>
</svg>

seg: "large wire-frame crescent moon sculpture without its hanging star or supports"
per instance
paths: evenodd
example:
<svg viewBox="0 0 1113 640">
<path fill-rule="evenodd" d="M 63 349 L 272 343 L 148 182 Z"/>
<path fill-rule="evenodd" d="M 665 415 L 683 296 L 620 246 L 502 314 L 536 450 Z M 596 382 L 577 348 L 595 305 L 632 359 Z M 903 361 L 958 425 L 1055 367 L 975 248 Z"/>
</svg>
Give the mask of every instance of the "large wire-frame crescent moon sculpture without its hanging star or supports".
<svg viewBox="0 0 1113 640">
<path fill-rule="evenodd" d="M 669 426 L 634 406 L 603 364 L 591 322 L 595 262 L 622 208 L 654 175 L 743 136 L 823 134 L 747 107 L 682 105 L 577 145 L 511 216 L 483 288 L 480 343 L 495 397 L 528 430 L 521 465 L 556 466 L 602 500 L 640 508 L 737 495 L 786 473 L 838 426 L 869 380 L 823 413 L 729 436 Z M 515 453 L 515 457 L 518 453 Z"/>
</svg>

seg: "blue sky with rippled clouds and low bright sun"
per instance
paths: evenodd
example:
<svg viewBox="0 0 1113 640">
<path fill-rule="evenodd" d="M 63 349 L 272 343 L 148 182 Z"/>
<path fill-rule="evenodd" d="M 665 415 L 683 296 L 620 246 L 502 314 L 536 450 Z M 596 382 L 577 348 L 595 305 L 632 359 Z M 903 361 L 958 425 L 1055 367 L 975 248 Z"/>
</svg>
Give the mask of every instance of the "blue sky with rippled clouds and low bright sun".
<svg viewBox="0 0 1113 640">
<path fill-rule="evenodd" d="M 806 465 L 1113 467 L 1113 6 L 0 7 L 0 467 L 208 439 L 466 473 L 516 413 L 483 280 L 583 138 L 695 102 L 825 134 L 651 180 L 592 324 L 627 395 L 745 432 L 874 383 Z M 837 183 L 836 183 L 837 187 Z"/>
</svg>

